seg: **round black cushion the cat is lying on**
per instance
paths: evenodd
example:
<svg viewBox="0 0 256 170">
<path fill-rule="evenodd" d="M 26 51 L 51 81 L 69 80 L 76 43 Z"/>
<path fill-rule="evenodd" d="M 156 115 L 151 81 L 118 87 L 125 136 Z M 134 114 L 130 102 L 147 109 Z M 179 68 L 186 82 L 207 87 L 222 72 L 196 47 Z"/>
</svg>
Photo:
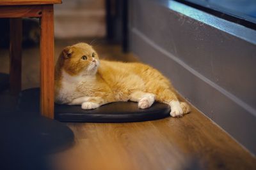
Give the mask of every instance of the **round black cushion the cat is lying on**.
<svg viewBox="0 0 256 170">
<path fill-rule="evenodd" d="M 20 92 L 19 109 L 39 111 L 40 89 Z M 170 107 L 154 103 L 150 108 L 141 110 L 138 103 L 116 102 L 100 106 L 95 110 L 82 110 L 81 106 L 55 104 L 55 118 L 61 122 L 141 122 L 170 117 Z"/>
</svg>

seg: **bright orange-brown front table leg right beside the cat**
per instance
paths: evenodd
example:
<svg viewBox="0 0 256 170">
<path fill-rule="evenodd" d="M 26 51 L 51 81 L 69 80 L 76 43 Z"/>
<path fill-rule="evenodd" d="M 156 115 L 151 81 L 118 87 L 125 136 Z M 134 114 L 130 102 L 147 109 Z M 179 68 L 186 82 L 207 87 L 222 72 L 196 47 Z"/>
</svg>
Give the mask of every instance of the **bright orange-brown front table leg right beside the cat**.
<svg viewBox="0 0 256 170">
<path fill-rule="evenodd" d="M 53 5 L 42 5 L 41 38 L 41 114 L 54 118 L 54 19 Z"/>
</svg>

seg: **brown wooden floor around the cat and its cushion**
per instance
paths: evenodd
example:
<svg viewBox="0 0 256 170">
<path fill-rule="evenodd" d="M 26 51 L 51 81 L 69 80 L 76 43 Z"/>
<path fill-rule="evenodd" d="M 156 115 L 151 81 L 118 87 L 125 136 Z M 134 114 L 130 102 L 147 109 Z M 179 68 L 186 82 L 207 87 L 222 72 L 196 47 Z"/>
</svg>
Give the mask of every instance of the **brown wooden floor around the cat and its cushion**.
<svg viewBox="0 0 256 170">
<path fill-rule="evenodd" d="M 82 40 L 81 40 L 82 41 Z M 79 40 L 56 41 L 61 48 Z M 100 57 L 134 61 L 120 46 L 94 41 Z M 8 50 L 0 49 L 0 72 L 8 73 Z M 38 48 L 24 50 L 22 88 L 39 85 Z M 256 169 L 256 159 L 192 108 L 182 118 L 125 124 L 68 124 L 72 148 L 52 155 L 55 169 Z"/>
</svg>

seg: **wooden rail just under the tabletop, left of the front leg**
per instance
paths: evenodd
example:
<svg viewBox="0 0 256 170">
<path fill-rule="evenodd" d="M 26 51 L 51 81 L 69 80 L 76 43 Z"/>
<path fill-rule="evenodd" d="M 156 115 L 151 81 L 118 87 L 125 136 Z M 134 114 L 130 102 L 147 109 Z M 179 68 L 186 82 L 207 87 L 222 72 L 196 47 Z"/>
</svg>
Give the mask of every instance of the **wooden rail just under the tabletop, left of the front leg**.
<svg viewBox="0 0 256 170">
<path fill-rule="evenodd" d="M 41 17 L 42 7 L 36 5 L 0 6 L 0 18 Z"/>
</svg>

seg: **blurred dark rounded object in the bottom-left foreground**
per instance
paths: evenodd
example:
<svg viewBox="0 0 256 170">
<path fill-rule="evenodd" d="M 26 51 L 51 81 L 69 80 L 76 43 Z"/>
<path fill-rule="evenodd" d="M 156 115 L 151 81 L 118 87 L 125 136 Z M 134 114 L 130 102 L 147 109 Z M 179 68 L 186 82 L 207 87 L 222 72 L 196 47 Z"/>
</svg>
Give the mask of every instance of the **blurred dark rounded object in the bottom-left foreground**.
<svg viewBox="0 0 256 170">
<path fill-rule="evenodd" d="M 0 116 L 1 169 L 49 169 L 48 155 L 72 146 L 67 125 L 36 113 Z"/>
</svg>

